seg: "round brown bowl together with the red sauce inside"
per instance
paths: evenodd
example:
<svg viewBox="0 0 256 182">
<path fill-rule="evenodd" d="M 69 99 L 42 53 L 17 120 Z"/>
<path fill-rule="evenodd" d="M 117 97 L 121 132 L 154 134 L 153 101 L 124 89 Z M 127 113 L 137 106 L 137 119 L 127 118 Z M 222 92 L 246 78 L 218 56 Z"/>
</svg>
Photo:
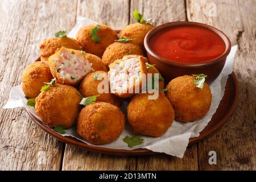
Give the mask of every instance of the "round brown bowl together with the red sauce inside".
<svg viewBox="0 0 256 182">
<path fill-rule="evenodd" d="M 169 82 L 183 75 L 220 75 L 231 44 L 223 32 L 203 23 L 171 22 L 153 28 L 144 39 L 150 64 Z"/>
</svg>

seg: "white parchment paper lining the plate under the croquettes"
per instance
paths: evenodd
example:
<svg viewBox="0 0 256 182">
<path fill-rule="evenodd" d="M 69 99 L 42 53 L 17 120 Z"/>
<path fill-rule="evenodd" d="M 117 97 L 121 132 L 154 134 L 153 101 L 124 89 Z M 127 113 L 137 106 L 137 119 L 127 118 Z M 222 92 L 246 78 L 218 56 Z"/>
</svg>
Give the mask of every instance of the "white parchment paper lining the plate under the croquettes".
<svg viewBox="0 0 256 182">
<path fill-rule="evenodd" d="M 68 36 L 71 38 L 75 38 L 77 31 L 80 27 L 85 26 L 86 24 L 96 23 L 93 20 L 88 18 L 84 18 L 82 16 L 77 17 L 77 24 L 69 32 Z M 189 123 L 180 123 L 174 121 L 172 126 L 168 131 L 162 136 L 158 138 L 146 137 L 139 135 L 139 137 L 144 139 L 144 143 L 136 146 L 134 148 L 129 148 L 126 143 L 123 142 L 123 138 L 128 136 L 134 136 L 138 134 L 134 134 L 131 131 L 129 125 L 125 126 L 125 130 L 121 134 L 121 136 L 112 143 L 109 144 L 102 144 L 100 147 L 106 148 L 115 148 L 115 149 L 123 149 L 123 150 L 134 150 L 135 148 L 147 148 L 149 150 L 155 152 L 164 152 L 168 155 L 177 156 L 182 158 L 184 152 L 188 146 L 189 138 L 191 137 L 198 137 L 200 132 L 207 126 L 208 122 L 212 118 L 212 115 L 215 113 L 220 101 L 224 95 L 226 80 L 228 79 L 228 75 L 230 75 L 233 71 L 233 62 L 234 56 L 236 54 L 237 46 L 233 46 L 227 59 L 224 69 L 222 70 L 221 74 L 210 84 L 210 90 L 212 92 L 212 105 L 210 106 L 209 112 L 201 119 L 195 122 Z M 122 103 L 122 110 L 125 113 L 127 102 Z M 31 111 L 36 118 L 40 119 L 33 107 L 27 106 L 27 99 L 24 96 L 22 88 L 20 85 L 14 86 L 11 88 L 9 100 L 7 101 L 6 105 L 3 109 L 14 108 L 14 107 L 25 107 L 26 110 Z M 41 120 L 41 119 L 40 119 Z M 88 143 L 83 140 L 77 133 L 76 127 L 72 127 L 71 129 L 67 130 L 67 133 L 64 136 L 72 136 L 84 143 Z M 90 143 L 88 143 L 90 144 Z M 92 144 L 90 144 L 92 145 Z"/>
</svg>

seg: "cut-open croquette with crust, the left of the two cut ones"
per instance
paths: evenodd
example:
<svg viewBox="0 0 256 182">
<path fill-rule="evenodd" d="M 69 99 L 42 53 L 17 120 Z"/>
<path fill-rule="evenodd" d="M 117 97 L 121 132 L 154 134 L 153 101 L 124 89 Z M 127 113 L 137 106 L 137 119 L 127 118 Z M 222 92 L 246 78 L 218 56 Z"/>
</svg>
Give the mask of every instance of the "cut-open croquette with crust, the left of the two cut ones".
<svg viewBox="0 0 256 182">
<path fill-rule="evenodd" d="M 88 73 L 96 69 L 106 71 L 99 57 L 65 47 L 61 47 L 49 57 L 48 63 L 57 82 L 66 85 L 78 84 Z"/>
</svg>

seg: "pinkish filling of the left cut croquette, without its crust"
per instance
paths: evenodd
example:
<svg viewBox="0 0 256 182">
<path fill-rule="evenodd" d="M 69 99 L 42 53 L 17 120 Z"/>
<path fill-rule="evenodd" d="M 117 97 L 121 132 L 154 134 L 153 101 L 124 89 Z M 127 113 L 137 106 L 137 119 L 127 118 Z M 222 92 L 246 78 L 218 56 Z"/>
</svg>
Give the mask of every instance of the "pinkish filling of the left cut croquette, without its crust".
<svg viewBox="0 0 256 182">
<path fill-rule="evenodd" d="M 76 82 L 92 72 L 91 64 L 80 53 L 63 50 L 55 59 L 56 74 L 61 78 Z"/>
</svg>

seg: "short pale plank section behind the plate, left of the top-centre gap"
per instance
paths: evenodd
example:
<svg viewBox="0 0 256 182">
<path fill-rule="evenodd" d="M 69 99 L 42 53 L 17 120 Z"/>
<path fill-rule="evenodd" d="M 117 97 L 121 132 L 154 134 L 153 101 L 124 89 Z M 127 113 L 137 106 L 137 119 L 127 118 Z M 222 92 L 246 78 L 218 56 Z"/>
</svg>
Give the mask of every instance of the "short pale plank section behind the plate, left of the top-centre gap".
<svg viewBox="0 0 256 182">
<path fill-rule="evenodd" d="M 120 30 L 129 23 L 129 0 L 79 0 L 77 15 Z"/>
</svg>

